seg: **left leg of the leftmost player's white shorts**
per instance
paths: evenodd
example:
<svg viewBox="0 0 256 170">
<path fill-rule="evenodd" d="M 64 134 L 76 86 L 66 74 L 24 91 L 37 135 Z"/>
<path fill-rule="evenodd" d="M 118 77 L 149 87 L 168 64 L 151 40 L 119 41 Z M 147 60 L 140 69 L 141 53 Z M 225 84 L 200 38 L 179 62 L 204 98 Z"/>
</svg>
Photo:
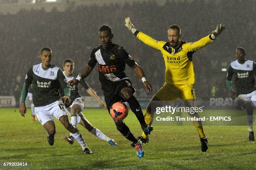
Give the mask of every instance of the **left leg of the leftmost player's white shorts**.
<svg viewBox="0 0 256 170">
<path fill-rule="evenodd" d="M 50 112 L 50 109 L 51 107 L 49 105 L 43 107 L 35 107 L 36 117 L 43 126 L 48 121 L 54 121 L 54 117 Z"/>
</svg>

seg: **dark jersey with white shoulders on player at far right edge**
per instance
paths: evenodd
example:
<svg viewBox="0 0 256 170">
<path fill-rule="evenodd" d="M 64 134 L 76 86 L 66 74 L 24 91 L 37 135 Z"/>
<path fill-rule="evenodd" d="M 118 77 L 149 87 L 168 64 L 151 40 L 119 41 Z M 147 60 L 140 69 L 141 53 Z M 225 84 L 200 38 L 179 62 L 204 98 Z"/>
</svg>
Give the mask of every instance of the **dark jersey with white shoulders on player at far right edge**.
<svg viewBox="0 0 256 170">
<path fill-rule="evenodd" d="M 240 64 L 236 60 L 228 67 L 227 80 L 231 81 L 234 76 L 236 94 L 248 94 L 256 90 L 254 75 L 256 75 L 256 63 L 246 60 L 245 63 Z"/>
</svg>

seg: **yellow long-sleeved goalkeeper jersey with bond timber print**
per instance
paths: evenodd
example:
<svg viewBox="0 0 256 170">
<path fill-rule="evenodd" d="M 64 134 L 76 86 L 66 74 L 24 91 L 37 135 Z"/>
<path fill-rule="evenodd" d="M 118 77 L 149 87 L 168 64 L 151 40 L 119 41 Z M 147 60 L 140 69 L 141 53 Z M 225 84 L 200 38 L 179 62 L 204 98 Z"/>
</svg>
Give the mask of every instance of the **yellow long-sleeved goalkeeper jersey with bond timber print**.
<svg viewBox="0 0 256 170">
<path fill-rule="evenodd" d="M 143 43 L 160 50 L 163 54 L 166 84 L 195 84 L 192 54 L 213 42 L 213 39 L 208 35 L 196 42 L 181 41 L 180 46 L 174 49 L 169 45 L 169 42 L 156 41 L 138 30 L 134 35 Z"/>
</svg>

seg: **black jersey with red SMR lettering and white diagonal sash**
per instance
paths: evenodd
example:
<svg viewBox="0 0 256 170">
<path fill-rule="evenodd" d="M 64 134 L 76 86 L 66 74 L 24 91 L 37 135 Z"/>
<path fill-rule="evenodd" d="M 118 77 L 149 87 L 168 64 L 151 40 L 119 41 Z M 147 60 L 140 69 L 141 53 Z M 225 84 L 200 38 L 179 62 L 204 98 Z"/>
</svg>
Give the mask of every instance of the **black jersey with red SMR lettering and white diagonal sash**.
<svg viewBox="0 0 256 170">
<path fill-rule="evenodd" d="M 113 84 L 129 79 L 124 73 L 125 63 L 133 67 L 135 61 L 123 47 L 112 44 L 111 48 L 106 50 L 102 45 L 94 48 L 88 65 L 93 68 L 98 64 L 102 90 L 109 91 Z"/>
</svg>

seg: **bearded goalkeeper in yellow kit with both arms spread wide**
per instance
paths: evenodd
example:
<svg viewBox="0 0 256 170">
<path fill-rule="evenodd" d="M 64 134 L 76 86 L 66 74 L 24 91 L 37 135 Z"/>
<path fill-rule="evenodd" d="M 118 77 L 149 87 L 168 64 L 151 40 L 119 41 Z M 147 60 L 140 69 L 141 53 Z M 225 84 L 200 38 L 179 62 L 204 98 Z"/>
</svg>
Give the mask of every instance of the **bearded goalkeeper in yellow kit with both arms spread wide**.
<svg viewBox="0 0 256 170">
<path fill-rule="evenodd" d="M 182 41 L 181 31 L 178 25 L 171 25 L 168 28 L 168 42 L 156 41 L 150 36 L 138 31 L 131 23 L 130 18 L 125 18 L 125 26 L 143 43 L 161 51 L 165 62 L 165 83 L 146 107 L 144 115 L 146 124 L 152 124 L 153 114 L 151 108 L 152 101 L 175 101 L 180 98 L 186 107 L 195 107 L 195 74 L 192 63 L 192 54 L 200 48 L 212 43 L 217 36 L 225 29 L 225 25 L 217 25 L 212 34 L 205 36 L 196 42 L 187 43 Z M 189 116 L 200 117 L 197 113 L 188 113 Z M 193 121 L 201 141 L 201 150 L 208 149 L 207 137 L 202 128 L 201 121 Z M 142 133 L 138 137 L 142 142 L 148 142 L 148 136 Z"/>
</svg>

